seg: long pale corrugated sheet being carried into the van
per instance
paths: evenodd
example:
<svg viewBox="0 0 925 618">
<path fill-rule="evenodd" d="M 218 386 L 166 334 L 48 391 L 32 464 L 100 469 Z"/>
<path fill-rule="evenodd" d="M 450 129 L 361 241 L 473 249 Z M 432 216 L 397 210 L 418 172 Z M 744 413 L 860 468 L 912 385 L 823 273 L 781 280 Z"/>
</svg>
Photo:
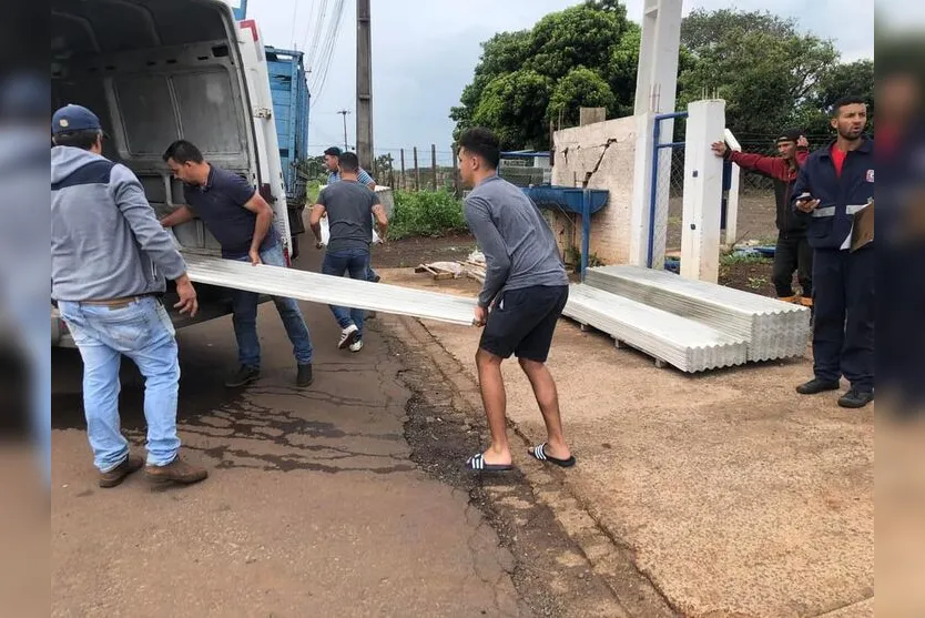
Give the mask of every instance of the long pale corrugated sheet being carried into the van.
<svg viewBox="0 0 925 618">
<path fill-rule="evenodd" d="M 184 253 L 190 278 L 311 303 L 472 325 L 475 298 Z"/>
</svg>

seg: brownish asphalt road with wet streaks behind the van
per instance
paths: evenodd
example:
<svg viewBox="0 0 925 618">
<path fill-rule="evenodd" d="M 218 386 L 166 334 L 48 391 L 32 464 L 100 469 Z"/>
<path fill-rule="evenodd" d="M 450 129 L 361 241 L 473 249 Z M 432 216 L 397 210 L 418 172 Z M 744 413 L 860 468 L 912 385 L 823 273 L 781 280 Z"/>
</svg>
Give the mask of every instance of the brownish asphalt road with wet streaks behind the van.
<svg viewBox="0 0 925 618">
<path fill-rule="evenodd" d="M 315 256 L 307 256 L 309 264 Z M 336 349 L 326 306 L 303 304 L 315 384 L 272 303 L 263 374 L 232 391 L 230 317 L 182 330 L 180 434 L 210 478 L 96 486 L 75 351 L 55 349 L 52 616 L 527 616 L 511 555 L 468 496 L 409 460 L 401 358 L 369 332 Z M 123 430 L 143 453 L 143 386 L 125 361 Z"/>
</svg>

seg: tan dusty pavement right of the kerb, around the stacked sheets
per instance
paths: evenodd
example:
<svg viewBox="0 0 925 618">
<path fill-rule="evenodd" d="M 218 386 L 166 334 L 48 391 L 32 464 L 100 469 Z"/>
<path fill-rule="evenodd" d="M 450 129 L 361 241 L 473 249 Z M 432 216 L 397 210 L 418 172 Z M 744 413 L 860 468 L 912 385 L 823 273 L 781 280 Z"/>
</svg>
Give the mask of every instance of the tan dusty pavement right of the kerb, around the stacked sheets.
<svg viewBox="0 0 925 618">
<path fill-rule="evenodd" d="M 410 249 L 404 256 L 433 261 Z M 472 280 L 379 272 L 398 285 L 466 296 L 479 290 Z M 770 273 L 770 263 L 738 263 L 722 277 L 771 295 Z M 398 338 L 427 351 L 444 373 L 441 396 L 467 418 L 467 435 L 479 430 L 478 331 L 410 322 L 423 334 L 405 327 Z M 803 358 L 690 376 L 562 321 L 550 368 L 579 466 L 562 474 L 522 454 L 515 460 L 593 573 L 621 601 L 650 604 L 631 615 L 873 616 L 874 411 L 843 411 L 837 393 L 796 395 L 793 387 L 812 374 L 809 349 Z M 511 430 L 526 447 L 543 437 L 541 418 L 515 363 L 505 365 L 505 381 Z M 538 489 L 549 477 L 566 500 Z"/>
</svg>

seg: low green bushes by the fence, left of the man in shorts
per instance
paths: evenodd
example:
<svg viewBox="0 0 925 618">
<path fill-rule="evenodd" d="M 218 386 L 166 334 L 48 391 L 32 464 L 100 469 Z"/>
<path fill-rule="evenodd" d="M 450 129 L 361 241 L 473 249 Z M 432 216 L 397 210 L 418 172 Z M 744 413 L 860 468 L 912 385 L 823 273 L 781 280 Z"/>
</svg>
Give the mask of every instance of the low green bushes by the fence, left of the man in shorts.
<svg viewBox="0 0 925 618">
<path fill-rule="evenodd" d="M 395 191 L 395 212 L 388 225 L 390 240 L 446 236 L 467 230 L 462 201 L 451 192 Z"/>
</svg>

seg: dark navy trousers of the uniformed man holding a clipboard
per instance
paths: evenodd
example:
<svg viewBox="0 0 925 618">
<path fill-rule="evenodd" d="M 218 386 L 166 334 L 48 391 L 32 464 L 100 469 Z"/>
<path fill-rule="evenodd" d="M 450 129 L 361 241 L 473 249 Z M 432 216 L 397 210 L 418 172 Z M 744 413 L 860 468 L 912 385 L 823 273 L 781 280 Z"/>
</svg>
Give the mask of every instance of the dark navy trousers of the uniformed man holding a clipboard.
<svg viewBox="0 0 925 618">
<path fill-rule="evenodd" d="M 858 391 L 874 388 L 874 247 L 819 250 L 813 261 L 813 371 L 826 382 L 843 375 Z"/>
</svg>

